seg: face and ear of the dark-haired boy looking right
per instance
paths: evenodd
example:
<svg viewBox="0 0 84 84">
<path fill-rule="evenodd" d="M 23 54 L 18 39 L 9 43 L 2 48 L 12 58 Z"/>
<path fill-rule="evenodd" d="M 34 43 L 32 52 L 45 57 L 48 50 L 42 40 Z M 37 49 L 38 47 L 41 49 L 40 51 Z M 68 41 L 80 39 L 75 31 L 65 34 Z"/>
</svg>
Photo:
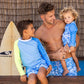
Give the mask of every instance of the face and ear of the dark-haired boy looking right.
<svg viewBox="0 0 84 84">
<path fill-rule="evenodd" d="M 34 29 L 34 27 L 33 27 L 33 24 L 30 24 L 30 25 L 28 25 L 27 26 L 27 29 L 25 29 L 24 30 L 25 31 L 25 36 L 26 36 L 26 38 L 27 37 L 33 37 L 34 36 L 34 33 L 35 33 L 35 29 Z"/>
</svg>

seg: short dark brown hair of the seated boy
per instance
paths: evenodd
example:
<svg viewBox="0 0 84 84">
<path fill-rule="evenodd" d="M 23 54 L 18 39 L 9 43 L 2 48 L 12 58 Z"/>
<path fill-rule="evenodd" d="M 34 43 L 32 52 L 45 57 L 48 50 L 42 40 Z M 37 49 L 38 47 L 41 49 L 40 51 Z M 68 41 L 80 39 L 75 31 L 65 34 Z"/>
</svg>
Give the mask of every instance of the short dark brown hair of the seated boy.
<svg viewBox="0 0 84 84">
<path fill-rule="evenodd" d="M 27 29 L 27 27 L 30 25 L 30 24 L 33 24 L 33 21 L 32 20 L 22 20 L 22 21 L 19 21 L 17 23 L 17 29 L 22 37 L 23 35 L 23 30 Z"/>
</svg>

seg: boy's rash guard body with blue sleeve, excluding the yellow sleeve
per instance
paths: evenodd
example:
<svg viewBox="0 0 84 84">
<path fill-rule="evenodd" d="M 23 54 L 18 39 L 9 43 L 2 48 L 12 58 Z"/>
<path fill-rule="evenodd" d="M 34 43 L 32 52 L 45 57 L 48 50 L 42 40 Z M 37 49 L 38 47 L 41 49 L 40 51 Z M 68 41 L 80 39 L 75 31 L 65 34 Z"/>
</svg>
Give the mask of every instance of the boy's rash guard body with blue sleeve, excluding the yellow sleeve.
<svg viewBox="0 0 84 84">
<path fill-rule="evenodd" d="M 49 57 L 40 43 L 39 39 L 31 38 L 29 40 L 19 40 L 18 47 L 20 49 L 20 56 L 23 66 L 33 67 L 39 63 L 39 61 L 46 61 L 47 65 L 50 64 Z"/>
</svg>

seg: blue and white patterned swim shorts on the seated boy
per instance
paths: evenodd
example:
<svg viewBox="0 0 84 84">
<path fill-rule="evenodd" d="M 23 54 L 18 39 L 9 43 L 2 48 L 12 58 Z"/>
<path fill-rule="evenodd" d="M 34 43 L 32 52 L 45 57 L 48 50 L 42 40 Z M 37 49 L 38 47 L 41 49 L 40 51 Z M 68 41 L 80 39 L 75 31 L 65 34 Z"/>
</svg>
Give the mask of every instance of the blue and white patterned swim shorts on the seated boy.
<svg viewBox="0 0 84 84">
<path fill-rule="evenodd" d="M 39 69 L 40 69 L 41 67 L 44 67 L 45 69 L 48 68 L 48 65 L 46 64 L 45 60 L 40 61 L 38 64 L 36 64 L 36 65 L 33 66 L 33 67 L 26 67 L 26 75 L 27 75 L 27 77 L 29 77 L 29 75 L 30 75 L 31 73 L 37 74 L 38 71 L 39 71 Z"/>
</svg>

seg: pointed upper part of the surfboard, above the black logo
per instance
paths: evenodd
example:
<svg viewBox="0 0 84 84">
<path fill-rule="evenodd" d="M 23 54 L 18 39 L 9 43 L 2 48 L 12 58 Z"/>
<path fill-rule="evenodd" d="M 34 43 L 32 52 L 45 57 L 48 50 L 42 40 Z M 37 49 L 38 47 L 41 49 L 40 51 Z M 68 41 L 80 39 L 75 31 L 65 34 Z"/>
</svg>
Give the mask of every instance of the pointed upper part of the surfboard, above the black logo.
<svg viewBox="0 0 84 84">
<path fill-rule="evenodd" d="M 15 24 L 11 21 L 5 30 L 4 36 L 1 41 L 0 52 L 3 51 L 12 51 L 14 41 L 20 38 L 20 34 L 15 26 Z"/>
</svg>

